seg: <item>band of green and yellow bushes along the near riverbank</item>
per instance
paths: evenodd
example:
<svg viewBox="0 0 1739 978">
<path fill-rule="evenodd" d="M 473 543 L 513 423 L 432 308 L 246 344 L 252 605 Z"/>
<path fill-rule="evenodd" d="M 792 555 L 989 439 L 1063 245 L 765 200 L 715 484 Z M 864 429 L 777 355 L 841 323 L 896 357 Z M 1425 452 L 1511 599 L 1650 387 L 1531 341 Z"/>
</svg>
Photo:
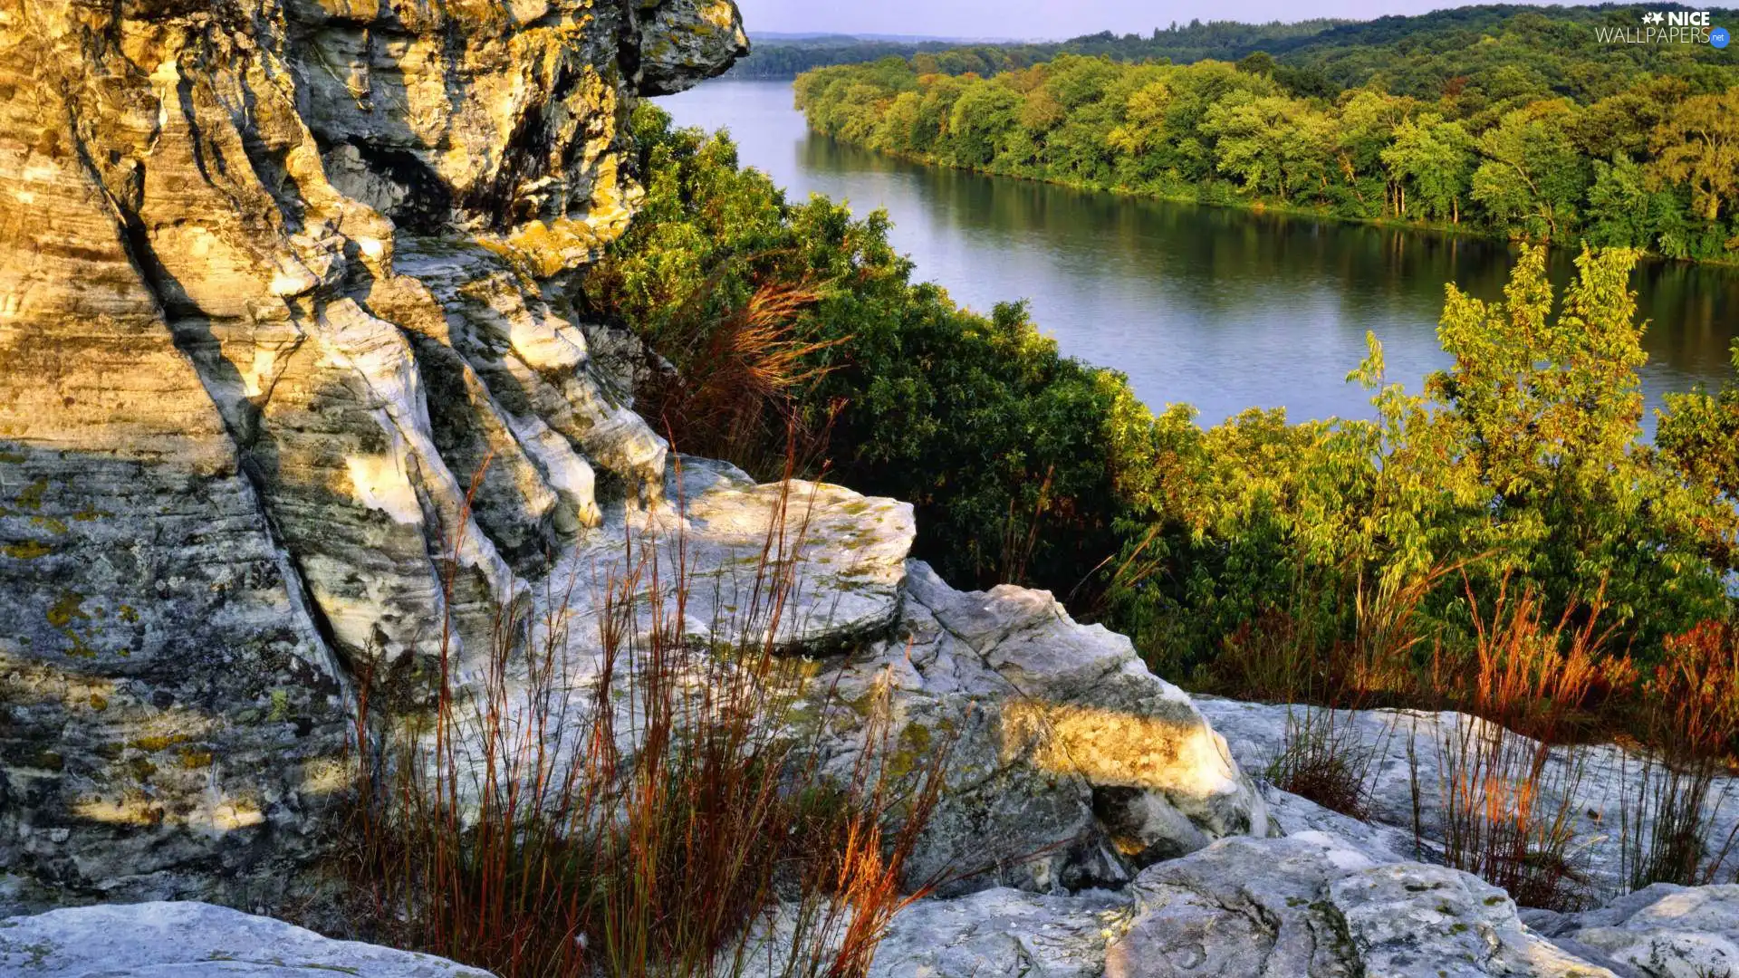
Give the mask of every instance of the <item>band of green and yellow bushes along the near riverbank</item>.
<svg viewBox="0 0 1739 978">
<path fill-rule="evenodd" d="M 913 282 L 885 214 L 790 202 L 729 137 L 654 106 L 635 129 L 647 204 L 581 313 L 675 367 L 642 411 L 756 475 L 795 445 L 802 472 L 913 501 L 916 553 L 956 585 L 1050 588 L 1205 684 L 1252 623 L 1285 614 L 1334 647 L 1383 595 L 1454 637 L 1475 595 L 1525 588 L 1551 614 L 1598 607 L 1643 661 L 1732 613 L 1739 390 L 1669 399 L 1643 439 L 1633 251 L 1586 251 L 1562 296 L 1539 249 L 1501 303 L 1450 289 L 1454 365 L 1421 393 L 1384 378 L 1372 338 L 1349 381 L 1374 421 L 1252 409 L 1203 428 L 1061 357 L 1021 305 L 979 315 Z"/>
</svg>

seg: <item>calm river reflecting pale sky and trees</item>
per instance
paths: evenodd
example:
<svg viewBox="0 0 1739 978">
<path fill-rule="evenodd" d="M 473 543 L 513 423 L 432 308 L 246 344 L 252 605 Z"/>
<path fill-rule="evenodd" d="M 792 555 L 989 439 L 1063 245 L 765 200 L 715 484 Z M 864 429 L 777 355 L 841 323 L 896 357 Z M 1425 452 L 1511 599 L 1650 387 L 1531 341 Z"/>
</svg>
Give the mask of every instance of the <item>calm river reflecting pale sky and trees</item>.
<svg viewBox="0 0 1739 978">
<path fill-rule="evenodd" d="M 1344 383 L 1365 332 L 1383 341 L 1389 379 L 1417 390 L 1449 362 L 1436 343 L 1443 285 L 1501 298 L 1516 258 L 1480 238 L 923 167 L 810 134 L 790 82 L 716 80 L 659 104 L 682 125 L 729 129 L 741 162 L 791 200 L 826 193 L 859 216 L 885 207 L 918 278 L 981 311 L 1028 299 L 1066 355 L 1123 371 L 1155 409 L 1193 404 L 1205 423 L 1252 405 L 1369 418 L 1369 393 Z M 1556 282 L 1570 259 L 1553 252 Z M 1650 407 L 1732 374 L 1739 271 L 1650 261 L 1633 287 L 1650 320 Z"/>
</svg>

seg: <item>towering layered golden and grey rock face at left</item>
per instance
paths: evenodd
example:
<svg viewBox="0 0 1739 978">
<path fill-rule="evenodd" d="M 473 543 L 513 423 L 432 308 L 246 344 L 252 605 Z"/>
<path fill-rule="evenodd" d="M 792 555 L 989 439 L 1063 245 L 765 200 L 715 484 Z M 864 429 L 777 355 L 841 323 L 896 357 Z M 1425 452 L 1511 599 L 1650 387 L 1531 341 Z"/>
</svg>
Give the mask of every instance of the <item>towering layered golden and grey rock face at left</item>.
<svg viewBox="0 0 1739 978">
<path fill-rule="evenodd" d="M 729 0 L 0 7 L 0 903 L 270 886 L 351 677 L 656 499 L 560 284 L 631 101 L 744 45 Z"/>
</svg>

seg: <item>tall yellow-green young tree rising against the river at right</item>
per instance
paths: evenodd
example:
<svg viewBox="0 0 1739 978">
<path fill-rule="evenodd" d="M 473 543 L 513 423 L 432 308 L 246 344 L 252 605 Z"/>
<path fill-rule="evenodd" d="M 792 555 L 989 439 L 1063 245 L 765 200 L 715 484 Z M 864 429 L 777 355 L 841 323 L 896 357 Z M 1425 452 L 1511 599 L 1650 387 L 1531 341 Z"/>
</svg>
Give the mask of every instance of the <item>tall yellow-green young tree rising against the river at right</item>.
<svg viewBox="0 0 1739 978">
<path fill-rule="evenodd" d="M 1697 527 L 1723 505 L 1683 491 L 1642 444 L 1635 259 L 1584 247 L 1556 317 L 1542 247 L 1523 251 L 1501 303 L 1450 285 L 1438 336 L 1456 362 L 1426 390 L 1449 405 L 1431 423 L 1466 445 L 1454 463 L 1464 475 L 1449 482 L 1492 492 L 1478 545 L 1560 604 L 1603 592 L 1617 620 L 1649 609 L 1636 626 L 1659 639 L 1704 613 L 1689 607 L 1720 600 L 1718 569 L 1680 567 L 1701 562 Z"/>
</svg>

